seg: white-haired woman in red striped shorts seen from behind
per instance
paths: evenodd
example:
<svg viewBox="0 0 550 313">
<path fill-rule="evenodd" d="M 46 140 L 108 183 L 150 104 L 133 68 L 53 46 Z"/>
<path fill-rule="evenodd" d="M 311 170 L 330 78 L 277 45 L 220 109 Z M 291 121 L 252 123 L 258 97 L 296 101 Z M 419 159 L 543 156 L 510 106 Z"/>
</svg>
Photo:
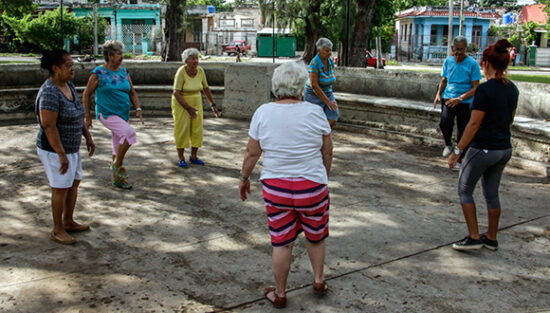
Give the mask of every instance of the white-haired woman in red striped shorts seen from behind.
<svg viewBox="0 0 550 313">
<path fill-rule="evenodd" d="M 256 110 L 246 147 L 239 195 L 247 199 L 249 177 L 263 153 L 260 180 L 263 185 L 271 244 L 275 287 L 264 291 L 277 308 L 286 306 L 286 280 L 292 246 L 304 232 L 313 269 L 313 290 L 328 290 L 323 273 L 325 238 L 328 237 L 328 174 L 332 162 L 330 125 L 323 109 L 301 100 L 307 70 L 304 64 L 287 62 L 273 72 L 272 92 L 278 101 Z"/>
</svg>

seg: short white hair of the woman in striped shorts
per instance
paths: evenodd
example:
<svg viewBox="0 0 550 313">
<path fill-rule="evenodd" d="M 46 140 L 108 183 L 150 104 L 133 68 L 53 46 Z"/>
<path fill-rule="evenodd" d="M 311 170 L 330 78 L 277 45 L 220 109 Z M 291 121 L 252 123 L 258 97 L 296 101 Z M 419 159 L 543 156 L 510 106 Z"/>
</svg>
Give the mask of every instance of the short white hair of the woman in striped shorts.
<svg viewBox="0 0 550 313">
<path fill-rule="evenodd" d="M 271 92 L 277 98 L 300 97 L 306 85 L 307 76 L 304 62 L 283 63 L 273 71 Z"/>
</svg>

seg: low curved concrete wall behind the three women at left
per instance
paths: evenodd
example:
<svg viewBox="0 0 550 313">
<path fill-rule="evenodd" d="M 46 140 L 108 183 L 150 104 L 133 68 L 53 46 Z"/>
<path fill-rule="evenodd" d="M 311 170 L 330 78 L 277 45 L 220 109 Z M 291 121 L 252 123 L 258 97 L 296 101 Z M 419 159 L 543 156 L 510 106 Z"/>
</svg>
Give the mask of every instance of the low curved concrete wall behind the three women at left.
<svg viewBox="0 0 550 313">
<path fill-rule="evenodd" d="M 74 84 L 79 96 L 91 71 L 100 65 L 90 63 L 75 63 Z M 170 99 L 174 75 L 182 65 L 180 62 L 147 62 L 127 63 L 123 66 L 130 73 L 132 82 L 138 92 L 140 103 L 147 114 L 170 114 Z M 214 101 L 221 106 L 223 102 L 223 85 L 227 63 L 202 63 Z M 46 70 L 38 64 L 6 64 L 0 65 L 0 121 L 34 118 L 34 101 L 42 83 L 48 78 Z M 207 107 L 206 101 L 205 109 Z M 92 99 L 92 110 L 94 109 Z"/>
</svg>

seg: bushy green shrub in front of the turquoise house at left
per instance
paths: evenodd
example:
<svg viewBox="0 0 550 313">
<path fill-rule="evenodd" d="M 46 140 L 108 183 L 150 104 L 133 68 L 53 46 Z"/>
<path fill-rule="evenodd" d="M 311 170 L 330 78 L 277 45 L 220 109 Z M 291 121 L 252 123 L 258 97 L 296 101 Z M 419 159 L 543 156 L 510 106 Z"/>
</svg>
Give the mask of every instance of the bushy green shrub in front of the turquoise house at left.
<svg viewBox="0 0 550 313">
<path fill-rule="evenodd" d="M 63 28 L 61 27 L 60 8 L 46 11 L 33 19 L 30 14 L 18 19 L 4 16 L 4 20 L 13 28 L 17 40 L 40 45 L 44 49 L 56 49 L 63 47 L 63 39 L 76 34 L 77 19 L 74 13 L 63 10 Z"/>
</svg>

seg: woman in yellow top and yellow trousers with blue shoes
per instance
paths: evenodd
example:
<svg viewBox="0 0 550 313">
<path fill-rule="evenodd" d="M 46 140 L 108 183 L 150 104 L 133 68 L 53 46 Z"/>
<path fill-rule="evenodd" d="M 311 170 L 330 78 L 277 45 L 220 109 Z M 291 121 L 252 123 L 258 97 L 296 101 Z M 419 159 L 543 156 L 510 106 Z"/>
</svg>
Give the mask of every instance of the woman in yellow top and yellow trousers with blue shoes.
<svg viewBox="0 0 550 313">
<path fill-rule="evenodd" d="M 197 157 L 197 151 L 202 146 L 202 97 L 201 90 L 208 99 L 212 112 L 219 117 L 212 92 L 208 88 L 206 75 L 199 64 L 199 50 L 189 48 L 183 51 L 182 59 L 185 65 L 181 66 L 174 77 L 172 92 L 172 115 L 174 116 L 174 138 L 178 150 L 178 166 L 187 168 L 184 149 L 191 143 L 191 157 L 189 162 L 204 165 Z"/>
</svg>

